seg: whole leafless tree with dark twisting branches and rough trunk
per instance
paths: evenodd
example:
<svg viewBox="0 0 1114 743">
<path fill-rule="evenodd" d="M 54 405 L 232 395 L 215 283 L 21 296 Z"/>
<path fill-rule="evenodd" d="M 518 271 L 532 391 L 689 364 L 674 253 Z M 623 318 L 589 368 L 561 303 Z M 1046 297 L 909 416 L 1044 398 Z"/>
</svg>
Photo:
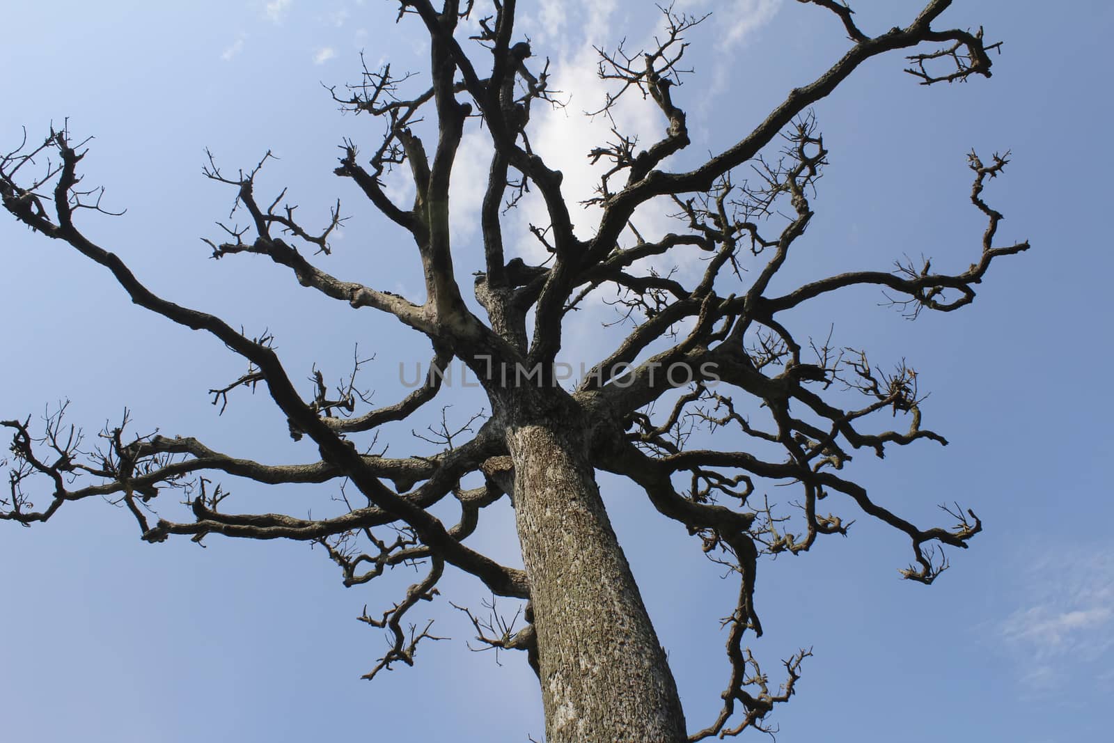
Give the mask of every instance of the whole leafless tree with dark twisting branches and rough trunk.
<svg viewBox="0 0 1114 743">
<path fill-rule="evenodd" d="M 739 575 L 737 607 L 727 623 L 723 708 L 691 737 L 764 729 L 773 706 L 793 694 L 809 652 L 784 662 L 779 690 L 745 648 L 745 632 L 762 632 L 755 608 L 760 555 L 795 555 L 821 535 L 846 535 L 846 517 L 820 510 L 819 501 L 831 493 L 905 532 L 913 563 L 903 575 L 925 584 L 947 565 L 941 546 L 966 547 L 981 528 L 971 511 L 958 506 L 949 507 L 954 528 L 920 528 L 842 475 L 854 450 L 880 457 L 887 447 L 945 440 L 921 428 L 924 393 L 912 368 L 902 362 L 881 371 L 861 350 L 791 332 L 794 312 L 863 286 L 880 287 L 913 319 L 925 309 L 949 312 L 971 302 L 974 285 L 994 258 L 1028 247 L 996 245 L 1001 215 L 983 198 L 1006 156 L 984 160 L 971 154 L 970 201 L 987 228 L 969 268 L 939 273 L 928 260 L 905 260 L 892 273 L 848 272 L 780 286 L 790 248 L 804 242 L 815 184 L 827 165 L 810 107 L 874 56 L 907 50 L 910 74 L 932 85 L 989 77 L 989 55 L 998 48 L 985 42 L 981 31 L 935 26 L 949 2 L 934 0 L 908 26 L 876 36 L 863 31 L 846 6 L 811 4 L 834 13 L 850 37 L 850 50 L 811 84 L 789 91 L 736 144 L 707 158 L 690 151 L 677 89 L 685 74 L 685 36 L 703 19 L 667 9 L 656 47 L 600 50 L 600 76 L 614 87 L 595 115 L 607 117 L 641 94 L 662 117 L 665 133 L 643 148 L 616 121 L 613 139 L 590 150 L 594 160 L 609 167 L 593 199 L 600 208 L 598 224 L 585 237 L 574 228 L 560 170 L 530 146 L 531 108 L 560 105 L 564 98 L 551 87 L 546 65 L 537 63 L 530 45 L 516 36 L 515 3 L 494 3 L 487 17 L 471 3 L 447 2 L 440 11 L 420 0 L 402 3 L 400 20 L 420 22 L 427 31 L 432 85 L 422 89 L 384 66 L 365 68 L 356 84 L 333 89 L 342 107 L 378 117 L 385 128 L 370 156 L 345 141 L 335 173 L 354 182 L 395 234 L 413 243 L 424 281 L 421 303 L 319 267 L 307 252 L 330 253 L 331 237 L 344 219 L 341 206 L 323 228 L 313 229 L 284 204 L 285 192 L 257 197 L 256 178 L 270 154 L 235 175 L 211 157 L 206 175 L 234 189 L 234 213 L 246 219 L 246 227 L 223 225 L 226 236 L 208 242 L 213 257 L 270 257 L 303 286 L 356 310 L 391 315 L 428 340 L 432 358 L 423 383 L 387 407 L 367 408 L 358 384 L 360 355 L 336 391 L 314 370 L 312 394 L 304 399 L 268 334 L 238 331 L 160 297 L 87 236 L 75 216 L 81 208 L 100 211 L 100 192 L 80 185 L 78 166 L 87 150 L 68 127 L 9 154 L 0 164 L 0 193 L 9 213 L 108 268 L 136 304 L 204 330 L 246 359 L 247 373 L 213 389 L 214 401 L 223 409 L 238 389 L 262 383 L 291 436 L 312 442 L 321 458 L 264 465 L 214 451 L 192 437 L 135 434 L 126 420 L 106 427 L 101 446 L 88 452 L 77 429 L 63 424 L 60 409 L 41 431 L 30 419 L 4 421 L 13 439 L 3 517 L 30 525 L 49 519 L 67 501 L 108 496 L 131 512 L 150 542 L 172 536 L 201 540 L 209 534 L 311 541 L 338 563 L 348 585 L 419 563 L 427 573 L 402 600 L 364 616 L 392 637 L 369 676 L 392 664 L 411 664 L 418 645 L 434 637 L 428 625 L 407 632 L 405 624 L 416 622 L 410 613 L 419 602 L 434 597 L 448 565 L 476 576 L 495 596 L 526 602 L 526 624 L 517 630 L 498 615 L 469 616 L 479 642 L 526 652 L 541 682 L 550 741 L 683 740 L 685 720 L 665 652 L 596 485 L 597 471 L 613 472 L 635 482 L 658 511 Z M 487 51 L 466 51 L 469 33 Z M 479 214 L 478 305 L 460 289 L 453 262 L 462 260 L 451 247 L 449 228 L 449 185 L 469 127 L 482 128 L 492 149 Z M 414 193 L 409 206 L 384 185 L 400 168 L 409 173 Z M 505 209 L 534 193 L 547 214 L 547 224 L 531 227 L 543 246 L 541 261 L 510 256 L 502 234 Z M 675 232 L 644 236 L 649 215 L 662 211 L 675 219 Z M 672 264 L 686 262 L 687 271 L 673 270 Z M 569 344 L 567 319 L 590 311 L 595 296 L 612 295 L 631 330 L 569 384 L 559 356 Z M 452 379 L 453 363 L 478 380 L 490 414 L 463 427 L 442 418 L 429 437 L 441 444 L 436 456 L 388 457 L 377 432 L 437 400 Z M 872 424 L 887 412 L 891 418 L 900 413 L 905 430 L 879 431 Z M 462 441 L 466 434 L 470 438 Z M 262 483 L 344 482 L 350 483 L 346 492 L 358 492 L 367 505 L 345 497 L 343 512 L 317 519 L 234 512 L 216 483 L 222 476 Z M 466 479 L 479 483 L 466 487 Z M 42 510 L 30 501 L 37 480 L 50 492 Z M 759 502 L 763 488 L 775 483 L 799 489 L 800 515 L 793 522 L 768 501 Z M 175 490 L 185 493 L 190 514 L 172 520 L 174 497 L 166 496 Z M 450 497 L 460 518 L 447 527 L 431 509 L 452 502 Z M 500 565 L 466 544 L 482 509 L 504 497 L 514 504 L 524 569 Z"/>
</svg>

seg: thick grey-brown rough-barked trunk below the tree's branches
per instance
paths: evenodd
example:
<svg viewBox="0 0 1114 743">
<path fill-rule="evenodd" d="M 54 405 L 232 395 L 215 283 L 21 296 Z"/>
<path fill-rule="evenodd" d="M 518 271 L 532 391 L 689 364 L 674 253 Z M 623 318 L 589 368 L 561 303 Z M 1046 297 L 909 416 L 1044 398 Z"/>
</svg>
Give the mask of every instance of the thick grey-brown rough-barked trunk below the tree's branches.
<svg viewBox="0 0 1114 743">
<path fill-rule="evenodd" d="M 547 741 L 680 743 L 676 683 L 599 497 L 587 437 L 560 428 L 508 433 Z"/>
</svg>

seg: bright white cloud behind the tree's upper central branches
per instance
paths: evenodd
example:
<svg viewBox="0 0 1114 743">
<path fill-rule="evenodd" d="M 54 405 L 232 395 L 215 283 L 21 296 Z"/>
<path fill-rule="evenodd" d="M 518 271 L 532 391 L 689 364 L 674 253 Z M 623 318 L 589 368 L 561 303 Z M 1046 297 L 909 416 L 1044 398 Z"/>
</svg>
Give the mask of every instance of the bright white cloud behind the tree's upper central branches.
<svg viewBox="0 0 1114 743">
<path fill-rule="evenodd" d="M 677 0 L 675 11 L 701 14 L 706 10 L 715 10 L 706 25 L 690 32 L 690 42 L 702 46 L 714 46 L 716 49 L 735 47 L 744 43 L 762 25 L 773 17 L 781 0 L 731 0 L 730 2 L 712 3 L 711 0 Z M 714 4 L 714 8 L 712 7 Z M 685 7 L 682 7 L 685 6 Z M 702 6 L 705 6 L 702 9 Z M 598 224 L 600 209 L 585 208 L 580 202 L 595 195 L 600 176 L 610 167 L 606 158 L 592 165 L 588 153 L 592 148 L 615 139 L 610 131 L 612 121 L 604 116 L 590 118 L 585 111 L 599 109 L 606 94 L 615 90 L 614 81 L 600 80 L 597 75 L 599 60 L 595 47 L 614 48 L 624 37 L 628 52 L 641 47 L 651 47 L 654 36 L 661 35 L 661 14 L 653 7 L 636 11 L 628 3 L 618 0 L 540 0 L 539 8 L 529 17 L 520 18 L 518 29 L 534 42 L 537 57 L 531 60 L 531 67 L 537 71 L 543 58 L 550 60 L 550 86 L 566 91 L 558 96 L 567 100 L 564 108 L 551 108 L 544 101 L 535 101 L 531 108 L 529 127 L 530 145 L 541 155 L 549 167 L 559 169 L 563 175 L 561 190 L 569 205 L 570 216 L 576 233 L 582 238 L 590 238 Z M 715 55 L 716 67 L 727 67 L 732 62 L 725 55 Z M 715 79 L 713 70 L 713 79 Z M 720 75 L 726 79 L 726 75 Z M 685 89 L 687 91 L 687 88 Z M 698 120 L 698 101 L 690 100 L 693 108 L 692 120 Z M 615 125 L 627 137 L 637 138 L 636 151 L 644 149 L 661 139 L 665 134 L 666 121 L 652 100 L 644 99 L 638 91 L 628 90 L 623 99 L 613 108 Z M 697 147 L 698 145 L 694 145 Z M 476 155 L 478 148 L 462 147 L 463 154 Z M 668 167 L 668 163 L 663 164 Z M 459 182 L 480 178 L 486 182 L 485 162 L 476 160 L 462 164 L 458 160 L 460 172 L 455 173 L 455 185 Z M 612 179 L 613 188 L 620 188 L 625 173 L 617 174 Z M 461 189 L 462 190 L 462 189 Z M 472 194 L 471 196 L 476 196 Z M 462 205 L 469 195 L 455 194 L 455 203 Z M 475 199 L 473 199 L 475 201 Z M 672 203 L 655 201 L 643 205 L 635 213 L 633 223 L 646 239 L 656 239 L 662 234 L 675 231 L 677 227 L 666 215 L 672 213 Z M 463 213 L 463 212 L 459 212 Z M 519 207 L 507 219 L 505 235 L 517 236 L 508 239 L 508 257 L 521 255 L 528 262 L 543 262 L 549 257 L 538 241 L 527 229 L 528 224 L 540 227 L 549 223 L 544 203 L 536 190 L 531 190 Z M 460 227 L 457 227 L 460 229 Z M 625 238 L 633 239 L 629 233 Z M 667 273 L 673 265 L 681 264 L 683 274 L 678 278 L 693 273 L 703 272 L 705 263 L 701 257 L 705 254 L 695 250 L 682 248 L 677 255 L 654 258 L 652 263 L 661 273 Z M 643 266 L 643 270 L 646 267 Z M 603 306 L 602 300 L 610 296 L 593 295 L 592 304 L 596 310 L 612 317 L 612 310 Z M 586 307 L 587 309 L 587 307 Z M 594 313 L 580 313 L 578 319 L 588 322 Z"/>
</svg>

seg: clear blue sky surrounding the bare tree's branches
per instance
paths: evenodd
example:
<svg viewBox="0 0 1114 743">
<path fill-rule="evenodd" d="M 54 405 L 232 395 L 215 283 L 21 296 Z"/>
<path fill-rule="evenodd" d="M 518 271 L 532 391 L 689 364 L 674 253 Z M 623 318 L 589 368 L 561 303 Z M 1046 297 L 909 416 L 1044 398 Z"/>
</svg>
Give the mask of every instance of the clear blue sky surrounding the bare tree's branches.
<svg viewBox="0 0 1114 743">
<path fill-rule="evenodd" d="M 656 17 L 641 2 L 521 4 L 535 53 L 553 58 L 557 87 L 573 95 L 565 111 L 534 124 L 536 146 L 575 195 L 590 185 L 583 156 L 599 136 L 598 124 L 578 116 L 603 95 L 589 45 L 626 36 L 636 46 Z M 846 48 L 839 23 L 821 9 L 778 0 L 684 4 L 715 11 L 691 35 L 696 75 L 675 96 L 690 111 L 696 154 L 736 140 Z M 907 22 L 918 3 L 852 7 L 878 32 Z M 422 70 L 421 33 L 412 22 L 394 26 L 393 10 L 374 0 L 8 8 L 0 145 L 18 144 L 23 125 L 36 139 L 69 117 L 75 134 L 96 137 L 87 183 L 105 185 L 106 203 L 128 209 L 119 218 L 88 215 L 88 234 L 168 299 L 252 333 L 273 331 L 292 373 L 307 374 L 316 361 L 339 377 L 358 342 L 377 353 L 367 387 L 377 401 L 393 400 L 398 362 L 424 360 L 424 345 L 383 317 L 300 291 L 273 266 L 234 260 L 250 256 L 211 261 L 198 239 L 217 234 L 213 223 L 233 196 L 201 177 L 204 148 L 233 169 L 270 148 L 281 159 L 261 187 L 289 185 L 307 221 L 325 218 L 336 196 L 352 215 L 328 258 L 331 271 L 401 292 L 419 285 L 401 235 L 331 174 L 341 138 L 373 146 L 378 124 L 342 116 L 320 85 L 354 80 L 361 50 L 372 65 Z M 957 1 L 942 20 L 983 23 L 1006 42 L 994 78 L 925 89 L 901 72 L 900 57 L 883 57 L 818 105 L 831 165 L 785 280 L 885 268 L 903 254 L 965 267 L 983 228 L 967 203 L 965 155 L 1013 150 L 986 195 L 1007 217 L 1001 242 L 1027 238 L 1034 248 L 996 263 L 973 306 L 910 323 L 862 292 L 794 319 L 817 336 L 834 326 L 840 344 L 868 348 L 879 361 L 905 358 L 932 393 L 926 424 L 951 446 L 910 447 L 883 461 L 858 457 L 853 471 L 876 499 L 920 524 L 940 518 L 937 504 L 958 499 L 986 531 L 952 553 L 952 568 L 928 588 L 898 580 L 906 540 L 866 518 L 847 539 L 821 539 L 809 554 L 763 566 L 756 600 L 766 635 L 752 644 L 755 655 L 776 678 L 779 657 L 799 646 L 815 653 L 799 695 L 778 713 L 783 741 L 1044 743 L 1100 740 L 1106 730 L 1114 507 L 1102 463 L 1114 444 L 1114 258 L 1102 223 L 1114 111 L 1101 70 L 1114 10 L 1086 0 L 1056 10 Z M 661 125 L 647 110 L 632 107 L 620 118 L 649 136 Z M 470 134 L 455 172 L 462 275 L 478 264 L 469 206 L 482 155 L 482 135 Z M 534 208 L 525 204 L 508 224 L 524 227 Z M 653 215 L 646 221 L 656 224 Z M 588 229 L 592 214 L 576 222 Z M 527 255 L 534 250 L 528 235 L 515 241 Z M 263 394 L 241 394 L 217 417 L 206 390 L 243 371 L 219 343 L 146 314 L 105 272 L 10 221 L 0 221 L 0 307 L 2 418 L 69 399 L 70 420 L 91 434 L 127 405 L 139 429 L 197 436 L 229 453 L 314 456 L 290 441 Z M 598 317 L 578 322 L 578 353 L 606 349 L 612 336 Z M 453 394 L 451 414 L 462 418 L 475 401 Z M 429 422 L 391 429 L 392 452 L 414 449 L 410 429 Z M 335 508 L 329 488 L 226 485 L 244 510 Z M 690 727 L 701 727 L 725 681 L 719 618 L 731 609 L 734 581 L 722 580 L 639 493 L 614 479 L 602 485 Z M 850 505 L 839 512 L 857 516 Z M 506 559 L 514 559 L 510 519 L 498 507 L 477 535 Z M 544 732 L 524 659 L 501 656 L 499 666 L 491 654 L 470 653 L 469 626 L 447 602 L 423 609 L 451 642 L 421 646 L 414 668 L 359 680 L 383 639 L 354 617 L 364 604 L 389 605 L 409 575 L 345 589 L 325 555 L 302 544 L 152 546 L 126 512 L 99 501 L 63 508 L 32 529 L 3 527 L 6 740 L 525 742 Z M 443 593 L 473 606 L 485 597 L 460 576 Z"/>
</svg>

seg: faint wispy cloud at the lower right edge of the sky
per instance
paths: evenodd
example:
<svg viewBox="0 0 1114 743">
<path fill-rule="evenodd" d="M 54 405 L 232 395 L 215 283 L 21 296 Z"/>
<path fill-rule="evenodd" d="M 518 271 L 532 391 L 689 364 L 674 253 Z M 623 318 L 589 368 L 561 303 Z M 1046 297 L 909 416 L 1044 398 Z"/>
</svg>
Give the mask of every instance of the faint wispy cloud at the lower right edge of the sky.
<svg viewBox="0 0 1114 743">
<path fill-rule="evenodd" d="M 1000 620 L 998 637 L 1034 688 L 1081 673 L 1098 678 L 1114 647 L 1114 547 L 1056 550 L 1026 571 L 1026 598 Z"/>
</svg>

